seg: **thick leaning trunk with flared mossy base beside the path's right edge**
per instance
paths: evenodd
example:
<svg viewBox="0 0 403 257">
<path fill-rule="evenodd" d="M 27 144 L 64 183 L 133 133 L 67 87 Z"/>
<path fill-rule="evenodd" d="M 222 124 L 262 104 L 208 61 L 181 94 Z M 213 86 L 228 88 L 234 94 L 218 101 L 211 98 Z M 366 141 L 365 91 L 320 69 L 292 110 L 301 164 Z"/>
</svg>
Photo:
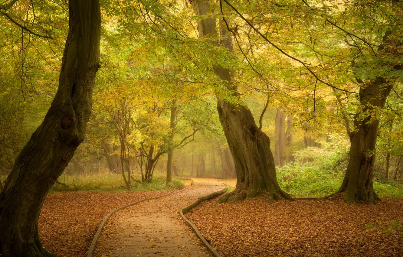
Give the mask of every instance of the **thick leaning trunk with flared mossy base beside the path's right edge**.
<svg viewBox="0 0 403 257">
<path fill-rule="evenodd" d="M 192 0 L 196 15 L 206 15 L 213 12 L 211 0 Z M 223 39 L 220 43 L 233 52 L 232 39 L 226 30 L 226 25 L 220 18 L 220 34 Z M 199 37 L 210 36 L 216 33 L 216 20 L 206 18 L 197 23 Z M 212 41 L 212 44 L 217 44 Z M 231 70 L 220 66 L 213 66 L 214 73 L 226 83 L 229 90 L 237 96 L 236 87 L 231 83 Z M 265 193 L 270 199 L 291 197 L 283 192 L 277 182 L 276 167 L 270 150 L 270 139 L 258 126 L 250 110 L 244 105 L 235 106 L 224 99 L 218 99 L 218 116 L 228 145 L 233 154 L 237 173 L 237 187 L 226 194 L 220 201 L 237 201 L 246 197 L 255 197 Z"/>
</svg>

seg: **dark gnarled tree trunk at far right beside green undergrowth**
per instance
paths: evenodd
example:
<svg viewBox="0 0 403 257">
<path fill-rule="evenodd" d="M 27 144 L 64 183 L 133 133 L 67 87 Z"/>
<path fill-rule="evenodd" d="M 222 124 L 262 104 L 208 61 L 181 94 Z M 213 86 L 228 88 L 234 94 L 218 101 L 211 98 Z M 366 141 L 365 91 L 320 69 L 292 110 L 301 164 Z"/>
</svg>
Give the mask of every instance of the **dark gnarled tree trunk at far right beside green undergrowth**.
<svg viewBox="0 0 403 257">
<path fill-rule="evenodd" d="M 387 31 L 382 39 L 378 52 L 386 54 L 384 48 L 397 53 L 396 47 L 401 45 L 397 39 L 389 39 L 392 34 Z M 401 70 L 401 64 L 391 67 L 393 70 Z M 354 116 L 355 130 L 347 133 L 350 137 L 350 160 L 340 189 L 336 193 L 345 192 L 344 201 L 347 203 L 376 203 L 380 199 L 375 194 L 372 178 L 375 163 L 375 145 L 377 139 L 379 120 L 374 115 L 376 108 L 383 108 L 386 98 L 392 90 L 393 83 L 388 83 L 383 77 L 359 81 L 362 86 L 359 89 L 359 101 L 364 105 L 359 113 L 368 113 L 365 118 L 359 114 Z"/>
</svg>

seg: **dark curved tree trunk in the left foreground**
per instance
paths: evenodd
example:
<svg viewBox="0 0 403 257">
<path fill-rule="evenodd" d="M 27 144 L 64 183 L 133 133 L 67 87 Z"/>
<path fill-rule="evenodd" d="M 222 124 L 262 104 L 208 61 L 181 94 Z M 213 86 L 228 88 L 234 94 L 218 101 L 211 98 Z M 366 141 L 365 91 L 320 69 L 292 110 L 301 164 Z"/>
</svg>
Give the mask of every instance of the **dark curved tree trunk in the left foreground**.
<svg viewBox="0 0 403 257">
<path fill-rule="evenodd" d="M 2 256 L 55 256 L 39 241 L 39 213 L 50 187 L 84 139 L 100 54 L 99 0 L 70 0 L 69 10 L 69 35 L 58 91 L 42 124 L 19 154 L 0 195 Z"/>
</svg>

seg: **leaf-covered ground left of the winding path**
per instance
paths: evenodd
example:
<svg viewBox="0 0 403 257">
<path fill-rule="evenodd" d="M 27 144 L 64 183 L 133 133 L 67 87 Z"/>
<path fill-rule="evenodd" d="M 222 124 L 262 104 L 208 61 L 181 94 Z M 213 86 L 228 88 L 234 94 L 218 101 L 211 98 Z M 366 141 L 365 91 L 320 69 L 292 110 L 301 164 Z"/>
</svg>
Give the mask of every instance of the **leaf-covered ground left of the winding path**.
<svg viewBox="0 0 403 257">
<path fill-rule="evenodd" d="M 186 180 L 185 186 L 190 183 Z M 98 226 L 110 211 L 178 190 L 49 194 L 39 216 L 39 238 L 46 250 L 61 257 L 86 256 Z"/>
</svg>

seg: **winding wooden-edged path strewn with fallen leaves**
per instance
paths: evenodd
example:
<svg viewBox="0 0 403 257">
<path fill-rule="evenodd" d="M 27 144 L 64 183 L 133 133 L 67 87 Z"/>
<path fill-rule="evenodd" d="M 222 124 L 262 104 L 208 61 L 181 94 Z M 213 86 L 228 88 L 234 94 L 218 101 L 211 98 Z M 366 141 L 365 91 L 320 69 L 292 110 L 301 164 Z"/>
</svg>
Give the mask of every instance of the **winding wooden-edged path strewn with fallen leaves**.
<svg viewBox="0 0 403 257">
<path fill-rule="evenodd" d="M 193 180 L 193 187 L 180 193 L 144 201 L 112 215 L 94 256 L 211 256 L 182 220 L 179 209 L 225 186 L 211 178 Z"/>
</svg>

